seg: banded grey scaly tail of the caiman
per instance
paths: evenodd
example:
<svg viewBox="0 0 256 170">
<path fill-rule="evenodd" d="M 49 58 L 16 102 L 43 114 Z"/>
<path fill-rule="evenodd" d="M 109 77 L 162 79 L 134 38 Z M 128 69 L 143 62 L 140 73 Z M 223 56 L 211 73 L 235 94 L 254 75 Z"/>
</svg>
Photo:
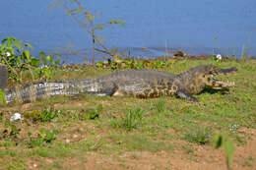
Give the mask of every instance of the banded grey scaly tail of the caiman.
<svg viewBox="0 0 256 170">
<path fill-rule="evenodd" d="M 111 86 L 111 85 L 110 85 Z M 55 95 L 97 94 L 109 95 L 109 85 L 99 79 L 81 79 L 54 82 L 35 82 L 15 85 L 5 90 L 6 103 L 28 103 Z"/>
</svg>

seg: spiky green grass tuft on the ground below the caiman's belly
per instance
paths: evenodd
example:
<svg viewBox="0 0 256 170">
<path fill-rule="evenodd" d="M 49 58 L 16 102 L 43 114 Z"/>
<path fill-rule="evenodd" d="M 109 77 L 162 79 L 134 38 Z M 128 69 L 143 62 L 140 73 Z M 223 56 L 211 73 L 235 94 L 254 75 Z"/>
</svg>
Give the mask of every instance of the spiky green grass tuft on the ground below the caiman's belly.
<svg viewBox="0 0 256 170">
<path fill-rule="evenodd" d="M 113 128 L 124 128 L 127 131 L 131 131 L 132 129 L 136 129 L 142 122 L 144 115 L 144 110 L 136 107 L 135 109 L 129 109 L 126 113 L 125 117 L 121 118 L 121 120 L 111 121 L 111 126 Z"/>
</svg>

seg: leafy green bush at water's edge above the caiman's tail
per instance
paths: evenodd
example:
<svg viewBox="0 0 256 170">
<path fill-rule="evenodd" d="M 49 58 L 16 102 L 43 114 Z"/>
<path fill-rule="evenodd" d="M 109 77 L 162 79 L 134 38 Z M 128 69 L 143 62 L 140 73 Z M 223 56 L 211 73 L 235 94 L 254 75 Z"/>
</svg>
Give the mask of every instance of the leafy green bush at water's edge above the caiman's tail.
<svg viewBox="0 0 256 170">
<path fill-rule="evenodd" d="M 15 37 L 4 38 L 0 43 L 0 63 L 8 68 L 9 79 L 23 81 L 23 72 L 29 70 L 32 81 L 35 80 L 34 72 L 38 73 L 38 78 L 50 80 L 52 70 L 60 64 L 60 59 L 55 59 L 53 55 L 46 55 L 40 52 L 40 59 L 31 55 L 32 45 L 17 40 Z M 41 67 L 39 67 L 41 66 Z"/>
</svg>

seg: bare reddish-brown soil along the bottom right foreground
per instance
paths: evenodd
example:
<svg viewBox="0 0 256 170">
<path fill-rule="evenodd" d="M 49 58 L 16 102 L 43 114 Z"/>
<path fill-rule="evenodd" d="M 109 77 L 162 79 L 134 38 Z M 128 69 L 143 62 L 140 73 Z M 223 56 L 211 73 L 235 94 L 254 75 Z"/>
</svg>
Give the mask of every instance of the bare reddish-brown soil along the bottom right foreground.
<svg viewBox="0 0 256 170">
<path fill-rule="evenodd" d="M 256 169 L 256 130 L 244 129 L 251 134 L 251 140 L 235 146 L 231 170 Z M 173 142 L 173 141 L 171 141 Z M 222 148 L 213 150 L 211 145 L 197 145 L 190 142 L 174 141 L 180 145 L 173 152 L 132 151 L 120 155 L 104 155 L 90 152 L 85 162 L 73 159 L 65 162 L 64 167 L 78 169 L 171 169 L 171 170 L 226 170 L 225 155 Z M 175 144 L 176 145 L 176 144 Z M 186 152 L 182 146 L 193 147 L 193 153 Z M 75 168 L 76 169 L 76 168 Z"/>
</svg>

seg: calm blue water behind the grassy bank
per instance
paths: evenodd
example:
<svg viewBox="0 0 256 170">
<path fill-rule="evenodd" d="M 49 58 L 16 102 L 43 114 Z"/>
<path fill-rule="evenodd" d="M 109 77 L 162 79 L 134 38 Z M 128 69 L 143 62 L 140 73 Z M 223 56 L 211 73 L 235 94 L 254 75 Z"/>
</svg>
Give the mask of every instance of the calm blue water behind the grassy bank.
<svg viewBox="0 0 256 170">
<path fill-rule="evenodd" d="M 65 1 L 65 0 L 64 0 Z M 67 62 L 78 63 L 84 57 L 70 55 L 67 48 L 92 48 L 91 37 L 61 7 L 48 7 L 52 0 L 5 0 L 0 6 L 0 38 L 15 36 L 40 51 L 58 52 Z M 68 0 L 66 0 L 68 2 Z M 107 47 L 130 51 L 134 57 L 163 55 L 182 49 L 188 54 L 231 55 L 240 57 L 242 46 L 250 41 L 249 54 L 256 56 L 255 0 L 87 0 L 86 7 L 99 11 L 96 23 L 121 19 L 125 27 L 110 26 L 96 33 Z M 214 41 L 214 38 L 217 39 Z M 72 47 L 72 48 L 71 48 Z M 141 47 L 148 47 L 142 50 Z"/>
</svg>

